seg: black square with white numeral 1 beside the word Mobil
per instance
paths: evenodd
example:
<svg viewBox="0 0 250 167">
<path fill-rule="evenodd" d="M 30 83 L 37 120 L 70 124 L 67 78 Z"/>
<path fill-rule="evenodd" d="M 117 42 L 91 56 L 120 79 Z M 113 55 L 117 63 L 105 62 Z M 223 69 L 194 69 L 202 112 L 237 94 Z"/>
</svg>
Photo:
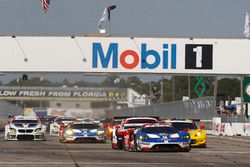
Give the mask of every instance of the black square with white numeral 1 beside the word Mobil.
<svg viewBox="0 0 250 167">
<path fill-rule="evenodd" d="M 187 44 L 185 69 L 212 69 L 213 45 Z"/>
</svg>

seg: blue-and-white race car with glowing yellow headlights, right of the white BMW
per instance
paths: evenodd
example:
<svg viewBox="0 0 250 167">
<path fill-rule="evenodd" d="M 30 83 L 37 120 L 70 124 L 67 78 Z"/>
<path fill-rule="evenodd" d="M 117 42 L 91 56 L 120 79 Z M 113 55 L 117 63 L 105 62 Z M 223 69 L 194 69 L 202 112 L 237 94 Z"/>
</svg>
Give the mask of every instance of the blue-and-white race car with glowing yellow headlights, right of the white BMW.
<svg viewBox="0 0 250 167">
<path fill-rule="evenodd" d="M 73 122 L 60 131 L 60 142 L 106 143 L 105 128 L 94 122 Z"/>
</svg>

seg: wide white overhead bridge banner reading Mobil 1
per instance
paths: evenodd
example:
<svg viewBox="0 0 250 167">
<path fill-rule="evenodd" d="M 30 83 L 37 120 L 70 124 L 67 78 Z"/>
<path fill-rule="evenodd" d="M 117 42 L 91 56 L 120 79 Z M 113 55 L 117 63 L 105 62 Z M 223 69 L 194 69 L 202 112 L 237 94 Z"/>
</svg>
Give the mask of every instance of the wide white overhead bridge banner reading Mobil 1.
<svg viewBox="0 0 250 167">
<path fill-rule="evenodd" d="M 250 74 L 250 40 L 0 37 L 0 72 Z"/>
</svg>

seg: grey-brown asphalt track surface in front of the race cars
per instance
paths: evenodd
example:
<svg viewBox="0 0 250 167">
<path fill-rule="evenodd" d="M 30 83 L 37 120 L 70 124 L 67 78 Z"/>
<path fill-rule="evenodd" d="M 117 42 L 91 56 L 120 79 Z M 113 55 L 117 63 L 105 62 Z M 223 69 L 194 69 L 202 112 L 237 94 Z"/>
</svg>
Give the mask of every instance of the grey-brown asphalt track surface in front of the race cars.
<svg viewBox="0 0 250 167">
<path fill-rule="evenodd" d="M 249 167 L 250 137 L 208 136 L 207 148 L 185 152 L 126 152 L 107 144 L 4 141 L 0 133 L 0 167 Z"/>
</svg>

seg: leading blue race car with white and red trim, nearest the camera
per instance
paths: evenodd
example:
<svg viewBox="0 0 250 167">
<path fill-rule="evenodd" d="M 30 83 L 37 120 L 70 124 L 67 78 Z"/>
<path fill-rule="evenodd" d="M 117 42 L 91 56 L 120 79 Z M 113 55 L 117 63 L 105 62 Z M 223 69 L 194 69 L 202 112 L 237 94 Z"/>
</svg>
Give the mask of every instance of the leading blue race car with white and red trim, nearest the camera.
<svg viewBox="0 0 250 167">
<path fill-rule="evenodd" d="M 184 151 L 189 152 L 190 135 L 169 124 L 144 125 L 126 133 L 124 149 L 129 151 Z"/>
</svg>

